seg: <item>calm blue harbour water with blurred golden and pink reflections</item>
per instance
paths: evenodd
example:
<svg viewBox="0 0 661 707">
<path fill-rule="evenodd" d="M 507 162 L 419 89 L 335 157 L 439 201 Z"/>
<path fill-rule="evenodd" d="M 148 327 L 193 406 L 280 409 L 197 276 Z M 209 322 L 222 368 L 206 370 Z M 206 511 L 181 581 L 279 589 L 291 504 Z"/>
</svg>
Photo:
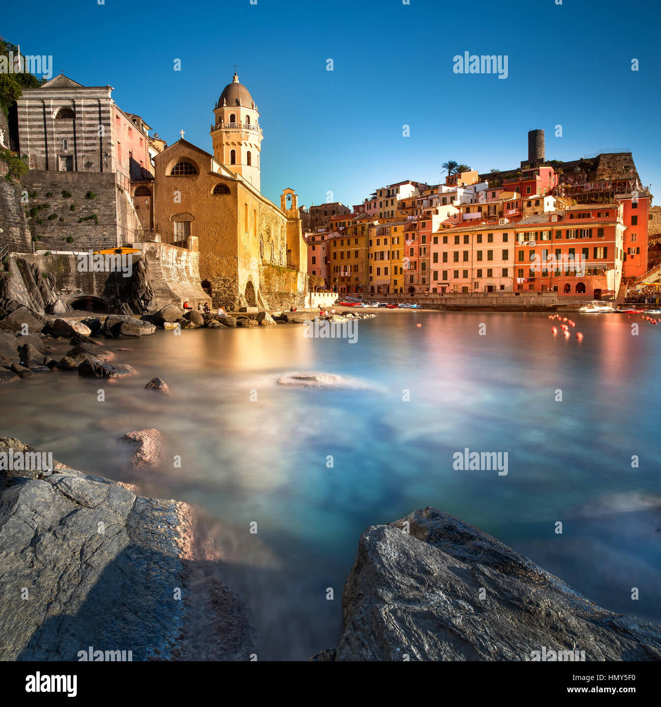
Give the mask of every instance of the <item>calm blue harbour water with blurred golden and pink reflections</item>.
<svg viewBox="0 0 661 707">
<path fill-rule="evenodd" d="M 335 645 L 361 532 L 423 506 L 481 527 L 597 604 L 661 621 L 661 325 L 573 318 L 581 342 L 554 337 L 538 313 L 414 311 L 358 322 L 356 344 L 305 338 L 300 325 L 106 341 L 132 349 L 117 361 L 139 375 L 5 385 L 1 429 L 199 508 L 252 612 L 259 660 Z M 276 385 L 305 371 L 358 385 Z M 169 398 L 142 390 L 154 375 Z M 181 468 L 127 470 L 118 438 L 144 427 L 163 433 Z M 508 474 L 453 469 L 464 448 L 508 452 Z"/>
</svg>

